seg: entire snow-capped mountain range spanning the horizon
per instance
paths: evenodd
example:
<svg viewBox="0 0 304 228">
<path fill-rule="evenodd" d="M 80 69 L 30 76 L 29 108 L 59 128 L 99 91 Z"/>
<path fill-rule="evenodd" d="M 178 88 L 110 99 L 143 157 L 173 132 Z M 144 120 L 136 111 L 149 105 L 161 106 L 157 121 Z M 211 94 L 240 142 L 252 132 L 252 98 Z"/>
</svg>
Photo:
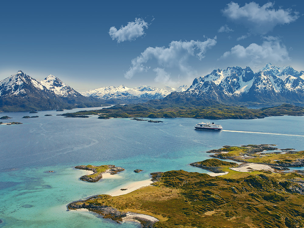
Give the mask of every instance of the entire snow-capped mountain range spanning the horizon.
<svg viewBox="0 0 304 228">
<path fill-rule="evenodd" d="M 185 85 L 162 89 L 121 85 L 82 93 L 53 75 L 36 81 L 18 71 L 0 81 L 0 111 L 5 112 L 98 107 L 105 103 L 142 103 L 148 100 L 151 100 L 150 104 L 166 106 L 216 103 L 273 105 L 283 102 L 303 105 L 304 71 L 270 63 L 256 73 L 250 67 L 227 67 L 195 78 L 189 88 Z"/>
</svg>

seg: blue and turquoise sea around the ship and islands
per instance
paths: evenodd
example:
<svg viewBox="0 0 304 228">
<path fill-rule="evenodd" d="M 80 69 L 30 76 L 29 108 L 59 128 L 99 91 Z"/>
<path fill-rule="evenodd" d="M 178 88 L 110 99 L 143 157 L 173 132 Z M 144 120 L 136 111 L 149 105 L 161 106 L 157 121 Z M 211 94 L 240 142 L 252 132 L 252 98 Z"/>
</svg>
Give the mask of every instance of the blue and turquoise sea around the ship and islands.
<svg viewBox="0 0 304 228">
<path fill-rule="evenodd" d="M 79 110 L 90 109 L 64 112 Z M 189 164 L 210 158 L 206 151 L 224 145 L 276 144 L 281 149 L 304 150 L 304 116 L 214 120 L 224 129 L 214 132 L 194 129 L 197 123 L 212 122 L 207 119 L 158 119 L 163 123 L 148 123 L 56 116 L 64 112 L 0 114 L 13 118 L 3 123 L 23 123 L 0 125 L 0 228 L 138 228 L 138 223 L 117 223 L 91 212 L 69 211 L 67 205 L 106 194 L 120 185 L 147 180 L 151 172 L 209 173 Z M 34 115 L 39 118 L 22 119 Z M 86 171 L 74 168 L 88 164 L 113 164 L 125 171 L 89 183 L 79 179 Z M 143 171 L 135 173 L 135 169 Z"/>
</svg>

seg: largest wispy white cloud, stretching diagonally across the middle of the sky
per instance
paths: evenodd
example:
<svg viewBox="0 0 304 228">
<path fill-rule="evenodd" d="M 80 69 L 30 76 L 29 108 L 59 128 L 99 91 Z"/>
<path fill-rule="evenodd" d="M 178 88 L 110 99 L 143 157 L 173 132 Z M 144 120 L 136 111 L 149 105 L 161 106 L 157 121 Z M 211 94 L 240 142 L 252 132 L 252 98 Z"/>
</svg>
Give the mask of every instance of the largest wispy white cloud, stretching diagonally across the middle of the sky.
<svg viewBox="0 0 304 228">
<path fill-rule="evenodd" d="M 169 47 L 147 47 L 138 57 L 131 61 L 130 69 L 125 73 L 125 78 L 130 79 L 136 73 L 147 72 L 150 66 L 147 66 L 149 60 L 156 60 L 161 68 L 155 68 L 157 73 L 155 80 L 166 81 L 170 79 L 170 74 L 164 73 L 164 67 L 177 69 L 183 75 L 193 75 L 196 72 L 188 64 L 190 57 L 196 57 L 202 60 L 205 57 L 207 49 L 216 45 L 216 37 L 201 42 L 194 41 L 172 41 Z M 161 76 L 160 76 L 161 75 Z"/>
</svg>

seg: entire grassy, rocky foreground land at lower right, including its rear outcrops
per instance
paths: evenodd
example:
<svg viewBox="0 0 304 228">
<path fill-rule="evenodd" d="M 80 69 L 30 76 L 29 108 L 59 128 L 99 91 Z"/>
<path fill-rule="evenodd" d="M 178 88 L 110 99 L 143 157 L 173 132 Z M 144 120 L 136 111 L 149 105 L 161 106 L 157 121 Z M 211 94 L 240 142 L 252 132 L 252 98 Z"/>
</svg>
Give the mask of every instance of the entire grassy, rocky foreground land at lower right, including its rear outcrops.
<svg viewBox="0 0 304 228">
<path fill-rule="evenodd" d="M 225 146 L 208 152 L 236 157 L 259 153 L 253 157 L 264 163 L 264 156 L 268 155 L 261 152 L 264 153 L 265 148 L 277 149 L 272 146 L 274 145 Z M 285 158 L 296 155 L 295 158 L 288 159 L 291 160 L 290 164 L 301 159 L 301 156 L 304 157 L 302 152 L 292 149 L 282 151 L 287 151 L 281 154 Z M 183 170 L 157 172 L 152 174 L 153 186 L 119 196 L 97 195 L 71 203 L 68 208 L 87 208 L 118 222 L 126 217 L 127 212 L 150 215 L 159 221 L 139 221 L 143 227 L 154 228 L 304 226 L 303 172 L 283 172 L 279 169 L 236 171 L 233 170 L 238 167 L 236 163 L 216 158 L 192 165 L 209 170 L 228 170 L 230 173 L 212 177 Z M 279 167 L 278 164 L 276 166 Z"/>
</svg>

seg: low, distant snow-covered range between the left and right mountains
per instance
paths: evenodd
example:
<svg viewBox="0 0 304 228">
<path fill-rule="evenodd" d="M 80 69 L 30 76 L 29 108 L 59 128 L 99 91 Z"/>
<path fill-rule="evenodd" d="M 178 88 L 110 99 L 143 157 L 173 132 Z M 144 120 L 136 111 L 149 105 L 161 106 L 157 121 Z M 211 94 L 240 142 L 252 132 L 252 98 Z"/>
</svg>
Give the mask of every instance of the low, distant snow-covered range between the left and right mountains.
<svg viewBox="0 0 304 228">
<path fill-rule="evenodd" d="M 81 94 L 86 97 L 96 97 L 101 99 L 120 99 L 120 100 L 130 100 L 130 99 L 162 99 L 171 92 L 183 92 L 187 90 L 187 86 L 183 85 L 178 88 L 172 88 L 166 86 L 162 89 L 143 85 L 136 88 L 128 88 L 124 85 L 119 87 L 108 86 L 101 87 L 97 89 L 92 89 L 87 92 L 82 92 Z"/>
</svg>

